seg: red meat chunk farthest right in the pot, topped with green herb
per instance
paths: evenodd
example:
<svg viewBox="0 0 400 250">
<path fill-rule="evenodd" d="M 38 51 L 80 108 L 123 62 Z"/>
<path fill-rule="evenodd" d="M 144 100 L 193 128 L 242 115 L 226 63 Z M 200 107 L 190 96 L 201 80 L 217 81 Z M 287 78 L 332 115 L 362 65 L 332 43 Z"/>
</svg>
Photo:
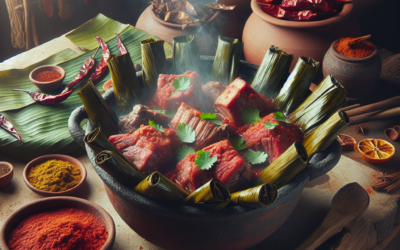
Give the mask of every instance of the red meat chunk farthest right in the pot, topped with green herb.
<svg viewBox="0 0 400 250">
<path fill-rule="evenodd" d="M 303 133 L 294 122 L 285 123 L 274 118 L 275 113 L 262 118 L 254 126 L 250 126 L 242 134 L 247 146 L 253 150 L 264 150 L 269 156 L 269 162 L 275 161 L 295 141 L 303 142 Z M 278 123 L 274 129 L 267 129 L 265 123 Z"/>
</svg>

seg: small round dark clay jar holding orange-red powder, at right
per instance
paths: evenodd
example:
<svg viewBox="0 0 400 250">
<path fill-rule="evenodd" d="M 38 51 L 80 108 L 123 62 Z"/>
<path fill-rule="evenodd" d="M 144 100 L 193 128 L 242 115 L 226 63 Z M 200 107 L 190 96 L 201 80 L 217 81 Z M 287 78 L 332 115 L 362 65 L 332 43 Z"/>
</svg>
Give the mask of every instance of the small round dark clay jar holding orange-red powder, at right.
<svg viewBox="0 0 400 250">
<path fill-rule="evenodd" d="M 369 97 L 379 81 L 382 61 L 377 49 L 367 57 L 352 58 L 339 54 L 333 44 L 322 63 L 324 77 L 333 75 L 347 90 L 349 100 Z"/>
</svg>

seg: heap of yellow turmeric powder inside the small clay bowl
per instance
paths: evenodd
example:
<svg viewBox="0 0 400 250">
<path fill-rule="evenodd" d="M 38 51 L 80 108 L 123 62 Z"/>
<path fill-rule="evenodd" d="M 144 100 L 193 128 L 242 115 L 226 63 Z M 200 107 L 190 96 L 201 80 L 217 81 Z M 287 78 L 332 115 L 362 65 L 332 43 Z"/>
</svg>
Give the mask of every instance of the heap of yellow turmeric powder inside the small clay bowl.
<svg viewBox="0 0 400 250">
<path fill-rule="evenodd" d="M 67 161 L 49 160 L 32 167 L 29 182 L 37 189 L 47 192 L 62 192 L 78 185 L 82 180 L 80 169 Z"/>
</svg>

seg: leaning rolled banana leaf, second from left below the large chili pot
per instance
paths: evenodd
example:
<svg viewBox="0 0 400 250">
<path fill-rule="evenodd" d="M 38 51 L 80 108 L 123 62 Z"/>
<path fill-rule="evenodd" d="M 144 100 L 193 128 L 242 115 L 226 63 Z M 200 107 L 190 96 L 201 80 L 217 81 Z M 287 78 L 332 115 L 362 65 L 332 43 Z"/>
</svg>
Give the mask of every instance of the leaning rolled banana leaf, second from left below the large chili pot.
<svg viewBox="0 0 400 250">
<path fill-rule="evenodd" d="M 307 98 L 309 88 L 319 68 L 312 58 L 299 57 L 296 66 L 275 98 L 275 108 L 289 115 Z"/>
</svg>

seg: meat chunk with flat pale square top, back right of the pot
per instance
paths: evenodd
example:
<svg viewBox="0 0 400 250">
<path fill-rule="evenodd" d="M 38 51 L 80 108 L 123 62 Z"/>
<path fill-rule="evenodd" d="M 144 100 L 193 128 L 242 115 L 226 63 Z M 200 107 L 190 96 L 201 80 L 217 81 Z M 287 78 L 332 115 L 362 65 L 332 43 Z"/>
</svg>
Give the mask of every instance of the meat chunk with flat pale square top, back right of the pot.
<svg viewBox="0 0 400 250">
<path fill-rule="evenodd" d="M 262 117 L 274 111 L 274 104 L 273 101 L 260 96 L 244 80 L 237 78 L 217 98 L 215 108 L 229 122 L 241 127 L 244 125 L 240 116 L 243 110 L 258 109 Z"/>
</svg>

